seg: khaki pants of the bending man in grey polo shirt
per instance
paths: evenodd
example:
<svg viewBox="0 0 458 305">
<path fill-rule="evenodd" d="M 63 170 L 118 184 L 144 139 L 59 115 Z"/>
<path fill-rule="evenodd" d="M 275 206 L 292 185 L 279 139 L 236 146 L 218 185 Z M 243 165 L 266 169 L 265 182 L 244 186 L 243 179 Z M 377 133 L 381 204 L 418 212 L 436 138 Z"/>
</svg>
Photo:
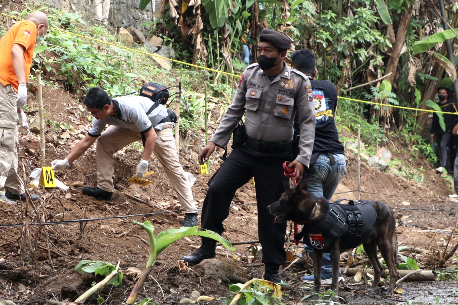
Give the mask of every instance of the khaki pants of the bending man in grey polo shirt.
<svg viewBox="0 0 458 305">
<path fill-rule="evenodd" d="M 196 211 L 196 204 L 192 198 L 191 185 L 185 176 L 185 171 L 178 159 L 175 139 L 171 123 L 164 123 L 162 130 L 155 130 L 158 135 L 154 145 L 154 155 L 162 164 L 165 174 L 178 195 L 181 208 L 186 213 Z M 97 186 L 108 192 L 113 191 L 114 158 L 113 154 L 123 147 L 142 141 L 140 132 L 118 126 L 109 126 L 97 139 Z M 126 177 L 130 178 L 130 177 Z"/>
</svg>

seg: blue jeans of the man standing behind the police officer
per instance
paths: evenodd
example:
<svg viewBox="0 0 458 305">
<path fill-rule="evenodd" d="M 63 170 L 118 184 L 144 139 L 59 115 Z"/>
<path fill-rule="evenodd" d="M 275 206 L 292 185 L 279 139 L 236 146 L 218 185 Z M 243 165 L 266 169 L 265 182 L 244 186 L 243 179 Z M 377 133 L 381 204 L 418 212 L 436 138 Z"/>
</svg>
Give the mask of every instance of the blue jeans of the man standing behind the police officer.
<svg viewBox="0 0 458 305">
<path fill-rule="evenodd" d="M 326 153 L 320 154 L 316 162 L 310 165 L 310 169 L 314 173 L 308 174 L 309 193 L 317 197 L 324 197 L 327 201 L 333 196 L 345 172 L 345 156 L 340 153 L 335 153 L 333 156 L 335 163 L 331 164 Z M 312 249 L 307 245 L 304 245 L 304 248 L 305 252 L 311 255 Z M 321 272 L 332 273 L 332 271 L 331 254 L 323 253 Z"/>
</svg>

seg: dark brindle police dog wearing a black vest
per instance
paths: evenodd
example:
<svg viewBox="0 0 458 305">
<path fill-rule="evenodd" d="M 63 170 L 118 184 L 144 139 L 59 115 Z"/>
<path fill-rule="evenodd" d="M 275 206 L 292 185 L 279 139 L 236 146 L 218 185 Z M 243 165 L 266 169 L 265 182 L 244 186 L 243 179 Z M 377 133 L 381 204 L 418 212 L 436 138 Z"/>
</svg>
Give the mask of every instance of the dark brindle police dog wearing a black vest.
<svg viewBox="0 0 458 305">
<path fill-rule="evenodd" d="M 294 223 L 304 225 L 304 229 L 302 229 L 302 232 L 305 231 L 304 243 L 312 247 L 315 291 L 319 291 L 321 287 L 323 252 L 331 253 L 331 266 L 333 268 L 331 289 L 335 290 L 336 295 L 338 295 L 340 251 L 363 244 L 375 273 L 374 282 L 369 292 L 376 292 L 382 273 L 382 265 L 377 259 L 378 246 L 390 272 L 387 294 L 393 294 L 398 279 L 396 268 L 398 264 L 398 239 L 396 221 L 392 210 L 379 201 L 366 201 L 364 204 L 358 204 L 358 202 L 346 205 L 332 204 L 325 198 L 313 196 L 307 190 L 308 179 L 304 176 L 295 189 L 285 191 L 280 199 L 267 206 L 267 209 L 275 216 L 276 222 L 292 220 Z M 350 212 L 344 211 L 347 208 L 344 206 L 349 206 Z M 375 210 L 375 212 L 365 212 L 368 209 Z M 369 215 L 366 219 L 365 213 Z M 329 222 L 325 218 L 329 218 L 331 214 L 333 219 Z M 360 225 L 349 229 L 351 227 L 349 221 Z M 324 228 L 323 223 L 327 223 Z M 334 229 L 330 229 L 331 227 Z M 316 229 L 319 230 L 318 234 L 313 234 L 313 232 L 317 233 Z M 329 237 L 326 234 L 333 236 Z"/>
</svg>

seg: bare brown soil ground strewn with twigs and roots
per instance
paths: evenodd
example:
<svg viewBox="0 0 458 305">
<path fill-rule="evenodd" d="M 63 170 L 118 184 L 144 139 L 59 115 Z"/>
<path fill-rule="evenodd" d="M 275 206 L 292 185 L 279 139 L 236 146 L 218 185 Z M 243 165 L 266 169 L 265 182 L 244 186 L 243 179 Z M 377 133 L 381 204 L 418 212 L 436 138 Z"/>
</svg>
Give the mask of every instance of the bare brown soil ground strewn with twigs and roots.
<svg viewBox="0 0 458 305">
<path fill-rule="evenodd" d="M 27 116 L 31 121 L 38 122 L 37 103 L 35 96 L 30 97 L 31 106 Z M 87 131 L 90 123 L 87 114 L 79 107 L 71 94 L 65 90 L 44 89 L 46 120 L 49 129 L 46 138 L 46 165 L 55 158 L 65 158 L 71 148 Z M 59 123 L 58 128 L 56 124 Z M 65 123 L 65 124 L 63 124 Z M 66 125 L 68 124 L 68 125 Z M 35 124 L 36 125 L 36 124 Z M 71 126 L 70 126 L 71 125 Z M 216 124 L 217 125 L 217 124 Z M 70 128 L 72 127 L 72 128 Z M 36 127 L 35 127 L 36 128 Z M 349 137 L 351 135 L 346 134 Z M 204 134 L 201 131 L 188 131 L 187 137 L 180 144 L 180 160 L 186 171 L 196 177 L 193 186 L 197 206 L 202 202 L 207 191 L 207 181 L 216 169 L 222 152 L 215 152 L 210 165 L 210 175 L 198 174 L 197 153 L 202 148 Z M 36 134 L 22 135 L 19 140 L 20 168 L 24 164 L 27 174 L 39 167 L 39 138 Z M 168 178 L 155 158 L 150 162 L 150 169 L 155 174 L 148 179 L 154 183 L 147 186 L 133 185 L 126 179 L 135 174 L 135 167 L 141 158 L 140 145 L 133 145 L 117 152 L 115 155 L 114 183 L 115 191 L 110 202 L 94 200 L 81 194 L 81 186 L 95 186 L 97 180 L 95 147 L 89 149 L 83 157 L 58 173 L 58 179 L 70 186 L 65 193 L 59 189 L 35 190 L 40 195 L 36 202 L 36 210 L 23 205 L 0 205 L 0 225 L 22 224 L 25 222 L 28 208 L 29 223 L 61 222 L 87 218 L 109 218 L 153 213 L 147 216 L 131 216 L 123 218 L 99 219 L 87 222 L 59 223 L 54 225 L 29 226 L 30 245 L 24 246 L 26 229 L 23 226 L 0 228 L 0 298 L 12 300 L 16 304 L 46 304 L 46 300 L 71 301 L 90 288 L 93 274 L 79 274 L 74 271 L 76 264 L 83 259 L 107 261 L 116 264 L 125 271 L 128 267 L 142 269 L 148 259 L 149 246 L 147 233 L 131 223 L 132 220 L 149 220 L 155 227 L 155 235 L 170 227 L 178 228 L 183 220 L 180 202 L 171 188 Z M 381 200 L 398 212 L 398 242 L 403 246 L 412 246 L 427 250 L 422 254 L 404 253 L 414 257 L 419 266 L 425 270 L 443 272 L 444 268 L 456 266 L 456 253 L 448 261 L 441 261 L 447 252 L 458 243 L 455 236 L 450 240 L 451 232 L 456 223 L 457 200 L 448 198 L 453 191 L 450 180 L 438 176 L 433 167 L 424 158 L 405 154 L 402 144 L 393 142 L 387 147 L 393 158 L 404 160 L 411 168 L 423 173 L 424 181 L 400 179 L 393 174 L 381 172 L 366 164 L 361 165 L 361 198 Z M 357 199 L 358 162 L 356 155 L 346 152 L 347 170 L 337 193 L 333 199 Z M 412 160 L 409 161 L 409 158 Z M 22 172 L 22 171 L 21 171 Z M 417 178 L 417 180 L 420 180 Z M 448 181 L 448 182 L 447 182 Z M 448 183 L 448 184 L 447 184 Z M 350 192 L 348 192 L 350 191 Z M 138 198 L 138 200 L 133 199 Z M 275 198 L 273 198 L 273 201 Z M 140 201 L 140 202 L 139 202 Z M 148 202 L 144 204 L 141 202 Z M 229 218 L 224 222 L 226 231 L 223 237 L 231 242 L 257 240 L 257 212 L 254 186 L 251 183 L 240 188 L 234 197 Z M 200 224 L 200 213 L 199 221 Z M 439 230 L 439 231 L 437 231 Z M 200 294 L 214 297 L 213 301 L 201 301 L 201 304 L 223 304 L 229 294 L 229 282 L 221 281 L 211 275 L 204 274 L 199 265 L 180 271 L 180 256 L 195 251 L 200 239 L 183 238 L 170 245 L 158 256 L 151 276 L 147 279 L 144 290 L 138 301 L 151 298 L 156 304 L 178 304 L 184 297 L 190 297 L 193 290 Z M 291 245 L 289 245 L 291 246 Z M 217 257 L 221 260 L 234 260 L 245 268 L 249 278 L 260 278 L 263 267 L 256 261 L 249 250 L 249 245 L 236 245 L 237 251 L 226 249 Z M 293 251 L 298 251 L 302 244 Z M 33 261 L 33 256 L 35 261 Z M 361 260 L 361 256 L 358 256 Z M 347 257 L 343 257 L 341 267 L 345 267 Z M 358 267 L 359 265 L 351 266 Z M 286 267 L 286 266 L 283 266 Z M 300 276 L 310 273 L 310 259 L 302 259 L 281 274 L 290 285 L 284 296 L 286 304 L 296 304 L 308 294 Z M 455 267 L 456 274 L 456 267 Z M 126 276 L 120 286 L 108 286 L 94 294 L 86 304 L 97 304 L 97 297 L 103 296 L 103 304 L 122 304 L 131 292 L 135 279 Z M 368 296 L 365 289 L 369 284 L 356 283 L 354 278 L 345 277 L 341 284 L 340 295 L 348 304 L 397 304 L 412 300 L 412 304 L 458 303 L 458 282 L 409 282 L 398 285 L 402 292 L 393 296 Z M 99 302 L 102 299 L 99 299 Z M 306 301 L 303 301 L 306 303 Z M 341 301 L 344 302 L 343 300 Z"/>
</svg>

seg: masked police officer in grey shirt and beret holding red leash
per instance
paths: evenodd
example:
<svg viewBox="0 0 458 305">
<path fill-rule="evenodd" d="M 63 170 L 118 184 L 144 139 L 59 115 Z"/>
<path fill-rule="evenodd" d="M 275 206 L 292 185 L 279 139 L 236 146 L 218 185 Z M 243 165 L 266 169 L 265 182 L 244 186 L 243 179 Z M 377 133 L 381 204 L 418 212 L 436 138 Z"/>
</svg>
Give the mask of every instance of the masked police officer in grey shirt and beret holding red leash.
<svg viewBox="0 0 458 305">
<path fill-rule="evenodd" d="M 309 166 L 315 136 L 315 111 L 308 78 L 290 69 L 285 63 L 286 51 L 291 47 L 282 33 L 263 29 L 257 47 L 258 63 L 249 65 L 240 76 L 234 100 L 221 124 L 206 147 L 199 154 L 204 163 L 215 150 L 224 147 L 246 112 L 245 131 L 234 131 L 234 144 L 229 157 L 221 165 L 208 188 L 202 209 L 202 228 L 222 234 L 223 221 L 235 191 L 248 182 L 256 181 L 258 234 L 262 245 L 263 278 L 280 283 L 279 265 L 286 261 L 284 238 L 286 223 L 274 223 L 267 206 L 283 192 L 282 164 L 292 161 L 300 177 Z M 298 113 L 300 123 L 300 152 L 293 161 L 293 121 Z M 202 246 L 183 256 L 189 263 L 215 257 L 216 242 L 202 238 Z"/>
</svg>

